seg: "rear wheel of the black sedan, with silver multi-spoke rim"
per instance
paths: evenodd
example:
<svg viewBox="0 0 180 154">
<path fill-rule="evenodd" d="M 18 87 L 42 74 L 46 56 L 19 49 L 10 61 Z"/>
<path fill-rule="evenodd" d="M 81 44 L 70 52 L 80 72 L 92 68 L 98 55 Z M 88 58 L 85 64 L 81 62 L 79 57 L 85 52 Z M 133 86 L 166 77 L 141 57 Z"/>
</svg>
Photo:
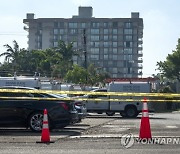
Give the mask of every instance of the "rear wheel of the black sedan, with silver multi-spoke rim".
<svg viewBox="0 0 180 154">
<path fill-rule="evenodd" d="M 29 127 L 34 132 L 39 132 L 42 130 L 43 125 L 43 113 L 35 112 L 29 117 Z"/>
</svg>

